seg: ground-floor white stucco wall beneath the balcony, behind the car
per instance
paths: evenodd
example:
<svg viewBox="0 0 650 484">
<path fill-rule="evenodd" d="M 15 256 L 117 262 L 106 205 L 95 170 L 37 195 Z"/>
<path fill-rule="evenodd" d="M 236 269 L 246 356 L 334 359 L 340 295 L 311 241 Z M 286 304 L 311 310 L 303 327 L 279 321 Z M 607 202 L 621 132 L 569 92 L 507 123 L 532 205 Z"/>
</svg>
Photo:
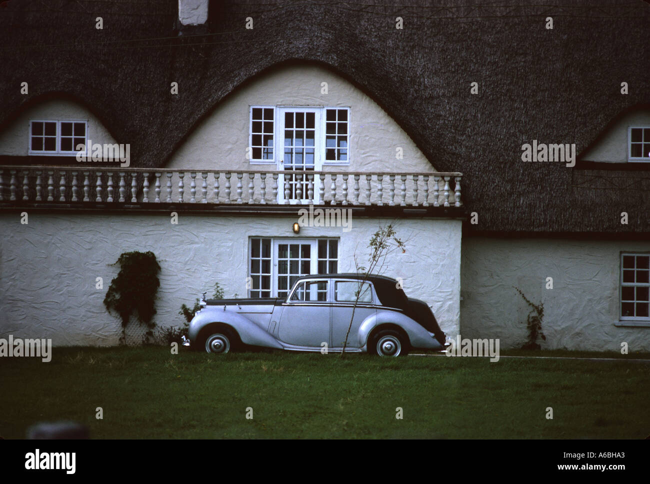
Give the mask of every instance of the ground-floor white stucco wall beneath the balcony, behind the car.
<svg viewBox="0 0 650 484">
<path fill-rule="evenodd" d="M 177 312 L 219 282 L 226 297 L 246 297 L 249 236 L 341 237 L 339 270 L 354 270 L 357 251 L 365 262 L 367 244 L 389 220 L 353 218 L 352 230 L 303 227 L 295 217 L 256 218 L 179 214 L 111 216 L 77 213 L 0 214 L 0 337 L 52 338 L 55 346 L 118 344 L 120 320 L 103 298 L 126 251 L 153 251 L 161 266 L 155 322 L 180 325 Z M 395 223 L 395 222 L 393 222 Z M 406 253 L 387 261 L 383 274 L 404 279 L 406 293 L 424 299 L 444 331 L 455 335 L 460 322 L 460 238 L 456 220 L 401 220 L 397 235 Z M 103 277 L 103 289 L 95 288 Z M 209 293 L 211 294 L 211 292 Z"/>
</svg>

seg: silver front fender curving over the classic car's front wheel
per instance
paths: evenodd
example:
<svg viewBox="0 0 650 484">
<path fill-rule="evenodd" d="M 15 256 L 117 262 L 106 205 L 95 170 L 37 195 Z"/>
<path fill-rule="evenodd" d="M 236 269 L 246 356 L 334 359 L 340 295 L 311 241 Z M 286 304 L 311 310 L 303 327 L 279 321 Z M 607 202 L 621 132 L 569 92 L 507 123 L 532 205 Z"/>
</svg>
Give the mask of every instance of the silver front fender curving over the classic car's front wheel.
<svg viewBox="0 0 650 484">
<path fill-rule="evenodd" d="M 201 329 L 213 323 L 223 323 L 233 327 L 244 344 L 277 348 L 278 350 L 283 348 L 276 338 L 246 318 L 246 316 L 242 316 L 237 312 L 224 311 L 220 306 L 207 307 L 194 316 L 188 331 L 192 346 L 196 346 Z"/>
</svg>

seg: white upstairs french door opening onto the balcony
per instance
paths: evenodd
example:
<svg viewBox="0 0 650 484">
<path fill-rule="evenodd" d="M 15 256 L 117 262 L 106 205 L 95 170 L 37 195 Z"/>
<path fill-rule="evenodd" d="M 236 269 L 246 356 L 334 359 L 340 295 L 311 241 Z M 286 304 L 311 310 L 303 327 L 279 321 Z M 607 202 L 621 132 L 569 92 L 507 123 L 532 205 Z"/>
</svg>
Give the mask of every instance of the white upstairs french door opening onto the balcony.
<svg viewBox="0 0 650 484">
<path fill-rule="evenodd" d="M 320 156 L 320 126 L 322 109 L 309 107 L 278 108 L 278 133 L 276 140 L 282 146 L 278 153 L 278 170 L 281 172 L 318 172 L 322 168 Z M 312 199 L 318 202 L 319 180 L 313 175 Z M 287 200 L 285 182 L 289 182 L 289 203 L 308 203 L 309 179 L 307 174 L 281 174 L 278 197 L 280 203 Z"/>
</svg>

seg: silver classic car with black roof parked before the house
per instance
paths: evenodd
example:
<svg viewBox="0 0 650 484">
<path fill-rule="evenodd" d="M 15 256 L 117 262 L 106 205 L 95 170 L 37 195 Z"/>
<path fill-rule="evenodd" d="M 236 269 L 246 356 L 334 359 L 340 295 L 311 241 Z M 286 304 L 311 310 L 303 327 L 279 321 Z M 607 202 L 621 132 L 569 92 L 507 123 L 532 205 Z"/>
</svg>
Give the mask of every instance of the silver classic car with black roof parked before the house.
<svg viewBox="0 0 650 484">
<path fill-rule="evenodd" d="M 381 275 L 305 275 L 286 299 L 207 299 L 188 336 L 192 348 L 209 353 L 246 346 L 341 352 L 348 327 L 346 352 L 404 356 L 445 348 L 430 307 Z"/>
</svg>

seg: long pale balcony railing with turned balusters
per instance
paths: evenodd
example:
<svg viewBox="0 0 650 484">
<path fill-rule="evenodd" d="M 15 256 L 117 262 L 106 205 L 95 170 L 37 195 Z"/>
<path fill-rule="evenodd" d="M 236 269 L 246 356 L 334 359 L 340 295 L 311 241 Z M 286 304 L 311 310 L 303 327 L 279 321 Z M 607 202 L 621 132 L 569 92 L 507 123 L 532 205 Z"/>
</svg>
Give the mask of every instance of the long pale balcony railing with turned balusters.
<svg viewBox="0 0 650 484">
<path fill-rule="evenodd" d="M 0 167 L 0 201 L 461 207 L 461 173 Z"/>
</svg>

